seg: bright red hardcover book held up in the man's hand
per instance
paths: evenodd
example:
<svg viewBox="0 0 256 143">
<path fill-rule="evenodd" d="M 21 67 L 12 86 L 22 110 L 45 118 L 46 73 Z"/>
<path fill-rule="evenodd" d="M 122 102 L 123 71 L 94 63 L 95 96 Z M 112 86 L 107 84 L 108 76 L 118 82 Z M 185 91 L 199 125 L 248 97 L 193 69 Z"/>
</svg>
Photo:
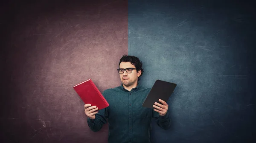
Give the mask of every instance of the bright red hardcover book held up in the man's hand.
<svg viewBox="0 0 256 143">
<path fill-rule="evenodd" d="M 76 93 L 80 96 L 82 101 L 84 101 L 84 104 L 96 106 L 98 107 L 98 110 L 109 106 L 108 102 L 91 79 L 76 84 L 73 88 L 76 90 Z"/>
</svg>

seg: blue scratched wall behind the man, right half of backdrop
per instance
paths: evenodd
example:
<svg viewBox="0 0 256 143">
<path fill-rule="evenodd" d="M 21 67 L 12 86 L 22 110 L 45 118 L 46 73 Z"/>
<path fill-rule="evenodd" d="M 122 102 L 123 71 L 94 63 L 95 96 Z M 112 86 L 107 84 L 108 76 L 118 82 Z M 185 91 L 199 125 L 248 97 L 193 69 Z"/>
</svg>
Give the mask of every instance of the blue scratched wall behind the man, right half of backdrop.
<svg viewBox="0 0 256 143">
<path fill-rule="evenodd" d="M 193 0 L 192 0 L 193 1 Z M 154 143 L 255 140 L 255 9 L 236 1 L 129 0 L 128 54 L 142 59 L 141 84 L 177 84 L 172 127 Z"/>
</svg>

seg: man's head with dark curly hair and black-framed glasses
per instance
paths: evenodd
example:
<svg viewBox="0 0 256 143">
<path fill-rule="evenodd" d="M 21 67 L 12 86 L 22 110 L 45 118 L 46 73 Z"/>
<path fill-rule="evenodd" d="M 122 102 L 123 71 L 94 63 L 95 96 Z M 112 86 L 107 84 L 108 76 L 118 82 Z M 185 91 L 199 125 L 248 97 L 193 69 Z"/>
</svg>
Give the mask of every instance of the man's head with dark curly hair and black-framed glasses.
<svg viewBox="0 0 256 143">
<path fill-rule="evenodd" d="M 126 70 L 125 70 L 126 69 Z M 140 80 L 140 76 L 143 75 L 143 68 L 140 59 L 135 56 L 123 55 L 119 62 L 119 75 L 122 84 L 125 86 L 131 86 L 137 84 Z"/>
</svg>

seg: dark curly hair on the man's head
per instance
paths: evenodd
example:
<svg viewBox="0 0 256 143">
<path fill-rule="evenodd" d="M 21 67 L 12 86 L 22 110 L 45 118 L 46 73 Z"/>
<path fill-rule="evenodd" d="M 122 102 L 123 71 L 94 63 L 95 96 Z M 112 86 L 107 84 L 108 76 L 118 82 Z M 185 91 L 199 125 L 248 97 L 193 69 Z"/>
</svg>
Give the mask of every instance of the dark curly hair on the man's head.
<svg viewBox="0 0 256 143">
<path fill-rule="evenodd" d="M 141 74 L 138 77 L 138 81 L 140 81 L 140 77 L 143 75 L 143 71 L 144 71 L 144 69 L 142 68 L 142 62 L 140 62 L 140 59 L 137 58 L 136 56 L 123 55 L 122 58 L 120 59 L 118 68 L 120 68 L 121 62 L 131 62 L 131 64 L 135 65 L 135 67 L 137 68 L 137 72 L 141 70 Z"/>
</svg>

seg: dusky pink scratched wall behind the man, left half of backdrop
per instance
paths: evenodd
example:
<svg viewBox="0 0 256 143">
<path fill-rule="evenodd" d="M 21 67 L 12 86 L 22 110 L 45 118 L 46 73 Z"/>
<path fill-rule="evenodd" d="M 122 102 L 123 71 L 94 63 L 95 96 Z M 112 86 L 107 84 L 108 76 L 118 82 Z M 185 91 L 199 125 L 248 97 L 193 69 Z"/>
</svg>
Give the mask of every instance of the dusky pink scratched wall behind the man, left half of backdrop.
<svg viewBox="0 0 256 143">
<path fill-rule="evenodd" d="M 1 70 L 2 143 L 106 143 L 92 132 L 73 86 L 91 78 L 99 90 L 121 84 L 128 54 L 128 2 L 9 2 Z"/>
</svg>

